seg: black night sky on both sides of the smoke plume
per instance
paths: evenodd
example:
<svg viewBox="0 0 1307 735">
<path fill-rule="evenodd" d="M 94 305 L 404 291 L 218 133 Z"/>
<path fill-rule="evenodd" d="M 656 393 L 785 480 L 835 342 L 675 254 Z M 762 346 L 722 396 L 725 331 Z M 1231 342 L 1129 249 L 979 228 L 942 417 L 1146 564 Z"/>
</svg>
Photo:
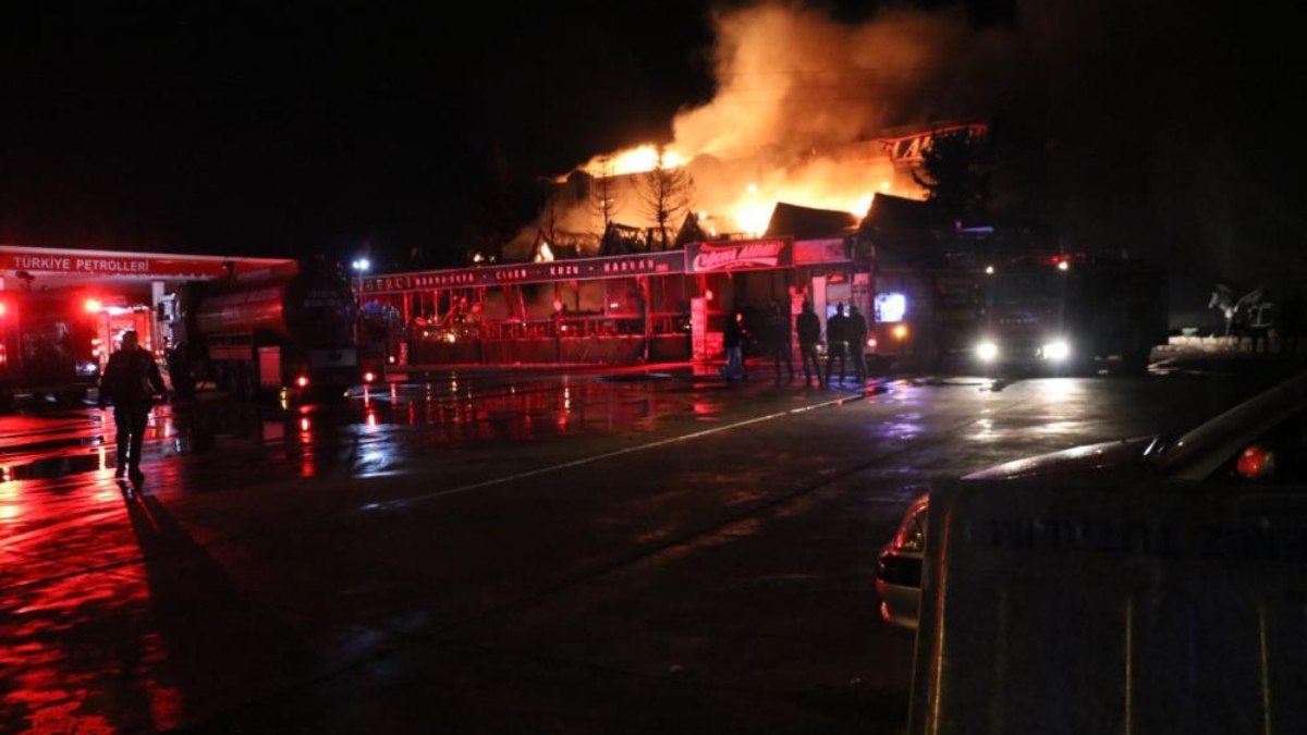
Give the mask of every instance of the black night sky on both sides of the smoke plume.
<svg viewBox="0 0 1307 735">
<path fill-rule="evenodd" d="M 805 7 L 852 22 L 894 5 Z M 1202 8 L 968 4 L 1046 39 L 1025 64 L 1042 82 L 992 98 L 1047 126 L 1084 212 L 1120 211 L 1213 271 L 1248 238 L 1303 260 L 1297 26 Z M 655 0 L 7 7 L 0 242 L 345 258 L 370 242 L 456 264 L 497 166 L 553 175 L 667 135 L 712 98 L 712 39 L 707 4 Z"/>
</svg>

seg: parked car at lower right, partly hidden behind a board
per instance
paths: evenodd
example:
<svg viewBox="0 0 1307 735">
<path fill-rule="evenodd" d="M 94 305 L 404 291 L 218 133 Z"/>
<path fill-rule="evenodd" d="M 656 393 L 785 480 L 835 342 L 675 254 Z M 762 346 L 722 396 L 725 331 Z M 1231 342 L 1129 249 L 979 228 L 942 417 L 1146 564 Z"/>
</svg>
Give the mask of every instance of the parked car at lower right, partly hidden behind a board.
<svg viewBox="0 0 1307 735">
<path fill-rule="evenodd" d="M 1300 373 L 1183 434 L 1080 446 L 1006 462 L 962 477 L 1307 483 L 1307 373 Z M 908 506 L 877 557 L 881 617 L 915 629 L 931 509 L 929 489 Z"/>
</svg>

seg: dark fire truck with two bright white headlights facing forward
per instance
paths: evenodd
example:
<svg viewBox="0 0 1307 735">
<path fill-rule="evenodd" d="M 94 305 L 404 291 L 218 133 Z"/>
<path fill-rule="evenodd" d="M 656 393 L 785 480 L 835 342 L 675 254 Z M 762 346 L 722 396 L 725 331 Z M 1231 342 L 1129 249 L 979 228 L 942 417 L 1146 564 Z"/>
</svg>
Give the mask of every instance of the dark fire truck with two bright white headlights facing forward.
<svg viewBox="0 0 1307 735">
<path fill-rule="evenodd" d="M 1089 254 L 877 269 L 874 357 L 915 370 L 1138 373 L 1168 339 L 1165 272 Z"/>
</svg>

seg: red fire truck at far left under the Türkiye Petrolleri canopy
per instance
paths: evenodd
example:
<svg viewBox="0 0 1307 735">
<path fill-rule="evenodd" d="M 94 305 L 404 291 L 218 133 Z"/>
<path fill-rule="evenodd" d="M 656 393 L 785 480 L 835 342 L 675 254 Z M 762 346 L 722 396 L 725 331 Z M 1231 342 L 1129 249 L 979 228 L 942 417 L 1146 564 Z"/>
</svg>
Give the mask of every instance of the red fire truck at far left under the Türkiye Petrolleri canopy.
<svg viewBox="0 0 1307 735">
<path fill-rule="evenodd" d="M 73 289 L 0 292 L 0 403 L 78 403 L 99 381 L 101 302 Z"/>
</svg>

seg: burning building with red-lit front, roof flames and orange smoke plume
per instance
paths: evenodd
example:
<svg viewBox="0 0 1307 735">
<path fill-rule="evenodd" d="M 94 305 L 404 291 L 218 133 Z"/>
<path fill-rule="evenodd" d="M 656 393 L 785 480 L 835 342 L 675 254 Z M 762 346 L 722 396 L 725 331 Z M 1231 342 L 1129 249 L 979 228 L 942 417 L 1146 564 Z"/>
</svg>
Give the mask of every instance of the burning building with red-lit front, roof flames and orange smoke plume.
<svg viewBox="0 0 1307 735">
<path fill-rule="evenodd" d="M 553 180 L 503 264 L 366 279 L 410 324 L 414 362 L 638 362 L 708 358 L 721 320 L 778 301 L 869 313 L 855 233 L 877 194 L 921 199 L 931 136 L 982 129 L 965 22 L 887 14 L 851 27 L 763 3 L 718 17 L 714 99 L 665 144 L 601 153 Z M 948 103 L 921 103 L 938 93 Z M 911 101 L 907 103 L 904 101 Z M 955 107 L 955 109 L 954 109 Z M 919 120 L 908 127 L 894 127 Z"/>
</svg>

